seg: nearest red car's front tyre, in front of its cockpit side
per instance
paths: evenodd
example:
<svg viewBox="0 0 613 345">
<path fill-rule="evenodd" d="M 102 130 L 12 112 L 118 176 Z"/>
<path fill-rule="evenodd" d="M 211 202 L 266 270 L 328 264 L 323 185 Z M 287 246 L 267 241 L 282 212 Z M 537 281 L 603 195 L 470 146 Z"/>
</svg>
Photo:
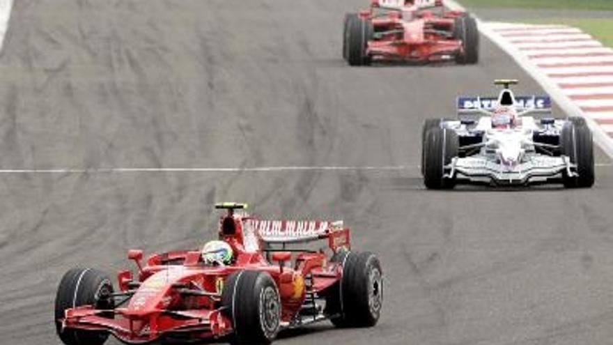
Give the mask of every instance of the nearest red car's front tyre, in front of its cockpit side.
<svg viewBox="0 0 613 345">
<path fill-rule="evenodd" d="M 240 270 L 224 283 L 222 312 L 232 320 L 232 344 L 270 344 L 279 332 L 281 299 L 268 273 Z"/>
</svg>

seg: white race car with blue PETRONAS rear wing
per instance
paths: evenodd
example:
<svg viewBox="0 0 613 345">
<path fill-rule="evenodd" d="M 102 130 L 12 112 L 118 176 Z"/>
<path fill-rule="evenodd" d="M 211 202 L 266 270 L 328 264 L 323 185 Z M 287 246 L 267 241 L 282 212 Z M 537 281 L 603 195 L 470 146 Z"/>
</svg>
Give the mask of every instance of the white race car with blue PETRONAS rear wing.
<svg viewBox="0 0 613 345">
<path fill-rule="evenodd" d="M 515 97 L 509 85 L 517 83 L 497 80 L 503 86 L 498 98 L 458 98 L 458 120 L 426 121 L 421 155 L 426 187 L 593 185 L 593 141 L 585 119 L 550 117 L 550 98 Z"/>
</svg>

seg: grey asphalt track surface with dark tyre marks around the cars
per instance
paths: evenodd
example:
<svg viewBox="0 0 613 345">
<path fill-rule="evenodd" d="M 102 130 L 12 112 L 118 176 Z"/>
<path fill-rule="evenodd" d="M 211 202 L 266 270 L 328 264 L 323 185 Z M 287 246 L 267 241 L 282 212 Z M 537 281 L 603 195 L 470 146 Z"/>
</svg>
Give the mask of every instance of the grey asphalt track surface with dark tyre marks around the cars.
<svg viewBox="0 0 613 345">
<path fill-rule="evenodd" d="M 15 2 L 3 169 L 417 166 L 421 123 L 451 116 L 457 94 L 495 77 L 540 91 L 488 42 L 479 66 L 349 68 L 341 22 L 359 0 Z M 424 190 L 417 167 L 0 174 L 0 343 L 59 344 L 65 270 L 198 247 L 212 204 L 232 200 L 342 218 L 383 263 L 375 328 L 323 323 L 278 344 L 610 344 L 613 169 L 597 174 L 591 190 L 451 192 Z"/>
</svg>

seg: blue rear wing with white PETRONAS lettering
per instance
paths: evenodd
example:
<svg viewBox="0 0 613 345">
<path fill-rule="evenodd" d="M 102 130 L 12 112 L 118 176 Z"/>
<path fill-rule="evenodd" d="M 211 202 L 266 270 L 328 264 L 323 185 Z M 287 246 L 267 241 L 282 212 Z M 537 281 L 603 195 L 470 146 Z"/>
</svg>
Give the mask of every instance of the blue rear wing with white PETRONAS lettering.
<svg viewBox="0 0 613 345">
<path fill-rule="evenodd" d="M 517 96 L 515 108 L 519 116 L 527 114 L 551 114 L 551 98 L 549 96 Z M 491 115 L 498 106 L 495 97 L 458 97 L 456 109 L 458 116 L 486 114 Z"/>
</svg>

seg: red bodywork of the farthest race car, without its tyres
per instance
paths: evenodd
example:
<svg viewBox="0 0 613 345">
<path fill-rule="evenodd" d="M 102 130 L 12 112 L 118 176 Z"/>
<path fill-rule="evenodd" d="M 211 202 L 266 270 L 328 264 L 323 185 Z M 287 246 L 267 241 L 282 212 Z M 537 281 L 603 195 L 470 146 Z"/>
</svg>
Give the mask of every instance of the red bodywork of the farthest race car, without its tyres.
<svg viewBox="0 0 613 345">
<path fill-rule="evenodd" d="M 382 13 L 380 13 L 382 11 Z M 434 62 L 463 54 L 463 43 L 453 38 L 457 17 L 464 12 L 445 10 L 442 1 L 427 9 L 407 1 L 401 8 L 382 8 L 373 0 L 359 16 L 373 25 L 366 55 L 373 61 Z"/>
</svg>

